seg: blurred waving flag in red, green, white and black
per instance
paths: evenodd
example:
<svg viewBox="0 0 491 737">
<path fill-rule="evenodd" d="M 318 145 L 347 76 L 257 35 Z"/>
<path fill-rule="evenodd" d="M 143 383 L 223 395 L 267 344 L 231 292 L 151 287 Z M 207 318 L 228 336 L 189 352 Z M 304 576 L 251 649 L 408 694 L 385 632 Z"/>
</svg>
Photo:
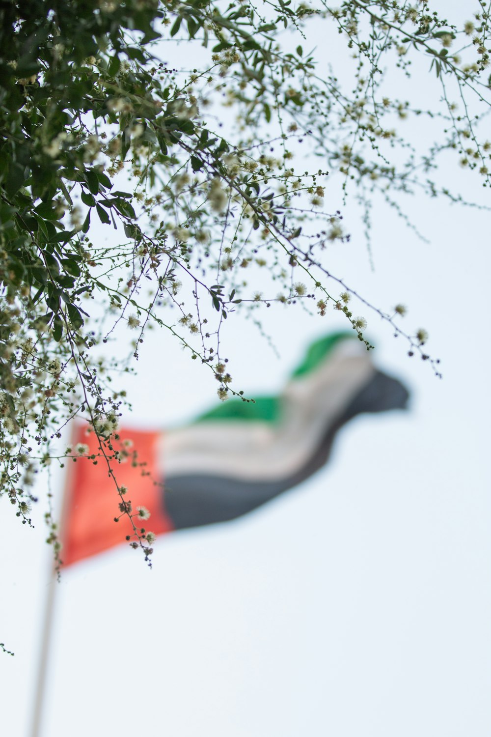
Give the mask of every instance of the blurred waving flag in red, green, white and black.
<svg viewBox="0 0 491 737">
<path fill-rule="evenodd" d="M 225 522 L 291 489 L 328 461 L 338 430 L 353 417 L 406 407 L 409 394 L 378 371 L 353 334 L 328 335 L 308 348 L 283 392 L 220 403 L 186 427 L 122 427 L 113 447 L 119 486 L 154 534 Z M 68 472 L 61 539 L 63 565 L 124 542 L 133 529 L 119 523 L 121 501 L 95 433 L 77 426 L 74 447 L 87 446 Z M 87 458 L 87 455 L 96 458 Z M 96 461 L 96 463 L 94 463 Z M 138 523 L 140 524 L 140 523 Z"/>
</svg>

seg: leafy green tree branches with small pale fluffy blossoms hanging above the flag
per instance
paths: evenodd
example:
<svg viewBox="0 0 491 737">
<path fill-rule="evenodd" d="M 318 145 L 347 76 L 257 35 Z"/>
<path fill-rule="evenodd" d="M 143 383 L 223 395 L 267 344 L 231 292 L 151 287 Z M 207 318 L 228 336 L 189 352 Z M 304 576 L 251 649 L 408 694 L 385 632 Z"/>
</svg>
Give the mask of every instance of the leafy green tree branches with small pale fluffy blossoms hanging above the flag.
<svg viewBox="0 0 491 737">
<path fill-rule="evenodd" d="M 484 1 L 463 27 L 425 0 L 3 1 L 0 20 L 0 493 L 23 523 L 38 469 L 84 455 L 52 450 L 83 418 L 133 546 L 149 556 L 117 480 L 121 363 L 98 352 L 127 328 L 125 371 L 160 326 L 226 399 L 242 394 L 219 340 L 234 312 L 273 301 L 334 308 L 370 348 L 355 296 L 438 372 L 425 331 L 401 328 L 402 305 L 372 306 L 328 270 L 349 234 L 325 188 L 332 180 L 360 203 L 370 248 L 373 198 L 411 228 L 401 195 L 463 202 L 439 160 L 490 184 Z M 353 57 L 349 90 L 336 59 L 329 67 L 311 51 L 319 24 L 334 24 Z M 429 109 L 417 90 L 406 99 L 417 59 L 439 89 Z M 395 74 L 400 98 L 386 92 Z M 438 133 L 423 151 L 411 119 Z M 50 510 L 46 521 L 59 559 Z"/>
</svg>

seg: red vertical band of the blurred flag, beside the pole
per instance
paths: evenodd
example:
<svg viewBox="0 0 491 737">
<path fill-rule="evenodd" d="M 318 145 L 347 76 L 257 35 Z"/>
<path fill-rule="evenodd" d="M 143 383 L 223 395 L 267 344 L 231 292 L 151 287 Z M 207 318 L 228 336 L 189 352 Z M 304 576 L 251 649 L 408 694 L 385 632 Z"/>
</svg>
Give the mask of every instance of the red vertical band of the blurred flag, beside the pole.
<svg viewBox="0 0 491 737">
<path fill-rule="evenodd" d="M 133 445 L 127 449 L 129 455 L 123 463 L 111 462 L 116 481 L 119 486 L 127 486 L 124 500 L 131 501 L 133 514 L 137 506 L 144 506 L 150 512 L 149 520 L 140 520 L 137 526 L 155 534 L 171 531 L 173 525 L 163 507 L 163 479 L 160 478 L 161 469 L 158 465 L 158 442 L 162 433 L 122 429 L 119 436 L 121 441 L 113 441 L 114 448 L 123 450 L 126 438 L 131 439 Z M 108 474 L 107 461 L 101 455 L 95 433 L 88 433 L 85 427 L 77 427 L 74 453 L 79 443 L 88 445 L 88 455 L 95 454 L 97 463 L 94 464 L 91 458 L 80 457 L 71 462 L 71 468 L 68 469 L 61 529 L 61 559 L 64 566 L 102 553 L 125 542 L 127 535 L 133 535 L 126 514 L 120 517 L 119 522 L 114 521 L 115 517 L 121 515 L 121 498 L 113 477 Z M 134 451 L 136 465 L 133 463 Z"/>
</svg>

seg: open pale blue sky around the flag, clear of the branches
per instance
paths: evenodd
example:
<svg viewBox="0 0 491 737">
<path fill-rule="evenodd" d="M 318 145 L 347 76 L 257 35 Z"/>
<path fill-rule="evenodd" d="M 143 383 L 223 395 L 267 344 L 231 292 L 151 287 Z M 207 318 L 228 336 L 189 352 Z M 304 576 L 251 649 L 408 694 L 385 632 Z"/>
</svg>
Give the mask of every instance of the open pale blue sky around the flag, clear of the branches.
<svg viewBox="0 0 491 737">
<path fill-rule="evenodd" d="M 463 186 L 481 198 L 478 181 Z M 353 239 L 330 267 L 381 307 L 407 304 L 443 380 L 364 312 L 375 363 L 411 389 L 410 411 L 351 422 L 328 467 L 254 514 L 160 537 L 152 570 L 125 546 L 66 570 L 42 737 L 489 737 L 490 215 L 406 207 L 430 245 L 379 209 L 372 272 L 348 206 Z M 281 360 L 249 323 L 225 335 L 252 395 L 278 390 L 311 339 L 344 325 L 282 306 L 264 318 Z M 138 368 L 138 427 L 216 397 L 167 335 L 146 341 Z M 2 722 L 27 737 L 50 553 L 43 509 L 34 531 L 1 509 L 0 639 L 15 651 L 0 654 Z"/>
</svg>

